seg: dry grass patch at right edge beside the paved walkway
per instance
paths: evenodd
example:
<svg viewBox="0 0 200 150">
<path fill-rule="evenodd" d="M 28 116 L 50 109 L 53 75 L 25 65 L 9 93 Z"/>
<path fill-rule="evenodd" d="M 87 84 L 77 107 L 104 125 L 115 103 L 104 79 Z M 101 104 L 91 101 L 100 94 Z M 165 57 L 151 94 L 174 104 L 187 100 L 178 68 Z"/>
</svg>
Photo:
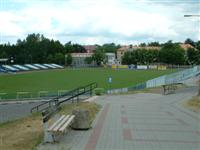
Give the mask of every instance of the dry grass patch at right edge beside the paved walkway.
<svg viewBox="0 0 200 150">
<path fill-rule="evenodd" d="M 200 112 L 200 96 L 195 96 L 191 100 L 187 101 L 184 104 L 187 108 L 190 108 L 192 111 Z"/>
</svg>

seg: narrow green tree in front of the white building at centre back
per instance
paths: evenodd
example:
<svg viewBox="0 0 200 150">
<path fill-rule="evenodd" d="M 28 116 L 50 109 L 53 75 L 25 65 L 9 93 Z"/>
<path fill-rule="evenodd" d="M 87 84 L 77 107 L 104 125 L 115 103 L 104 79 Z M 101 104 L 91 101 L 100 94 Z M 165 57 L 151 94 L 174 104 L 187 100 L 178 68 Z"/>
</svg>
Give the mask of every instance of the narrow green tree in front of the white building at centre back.
<svg viewBox="0 0 200 150">
<path fill-rule="evenodd" d="M 97 47 L 94 54 L 92 55 L 93 60 L 97 63 L 98 66 L 101 65 L 105 60 L 105 54 L 101 47 Z"/>
</svg>

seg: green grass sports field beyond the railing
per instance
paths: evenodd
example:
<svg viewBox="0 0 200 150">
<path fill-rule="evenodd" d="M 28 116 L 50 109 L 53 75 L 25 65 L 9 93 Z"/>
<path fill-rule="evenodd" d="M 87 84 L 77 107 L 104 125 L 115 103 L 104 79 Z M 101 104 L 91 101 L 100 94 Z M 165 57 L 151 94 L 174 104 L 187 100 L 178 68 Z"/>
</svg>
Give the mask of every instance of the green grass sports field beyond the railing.
<svg viewBox="0 0 200 150">
<path fill-rule="evenodd" d="M 97 82 L 108 89 L 108 77 L 113 78 L 111 88 L 122 88 L 169 74 L 175 70 L 111 70 L 111 69 L 65 69 L 7 74 L 0 76 L 0 93 L 70 90 Z"/>
</svg>

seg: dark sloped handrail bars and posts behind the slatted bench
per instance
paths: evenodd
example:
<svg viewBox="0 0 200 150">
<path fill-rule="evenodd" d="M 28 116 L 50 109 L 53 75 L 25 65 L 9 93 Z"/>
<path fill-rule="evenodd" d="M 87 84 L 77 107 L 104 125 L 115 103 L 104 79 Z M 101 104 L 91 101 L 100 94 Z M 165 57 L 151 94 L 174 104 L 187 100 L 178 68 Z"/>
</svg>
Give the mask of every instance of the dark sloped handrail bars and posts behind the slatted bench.
<svg viewBox="0 0 200 150">
<path fill-rule="evenodd" d="M 89 87 L 89 89 L 87 90 L 88 87 Z M 42 110 L 48 109 L 52 105 L 52 103 L 54 103 L 54 105 L 60 105 L 61 103 L 65 102 L 65 101 L 71 100 L 72 98 L 78 97 L 78 96 L 80 96 L 82 94 L 85 94 L 85 93 L 87 93 L 89 91 L 90 91 L 90 94 L 91 94 L 92 90 L 94 88 L 97 88 L 97 83 L 96 82 L 90 83 L 90 84 L 85 85 L 85 86 L 80 86 L 80 87 L 75 88 L 75 89 L 73 89 L 71 91 L 68 91 L 68 92 L 66 92 L 66 93 L 64 93 L 64 94 L 62 94 L 60 96 L 57 96 L 57 97 L 55 97 L 55 98 L 53 98 L 53 99 L 51 99 L 51 100 L 49 100 L 47 102 L 44 102 L 42 104 L 39 104 L 39 105 L 33 107 L 31 109 L 31 112 L 33 112 L 34 110 L 36 110 L 37 112 L 40 111 L 39 108 L 44 106 L 44 105 L 46 105 L 46 104 L 48 104 L 48 106 L 46 106 Z M 80 92 L 80 90 L 83 90 L 83 92 Z M 70 96 L 70 97 L 59 102 L 59 99 L 64 98 L 66 96 Z"/>
</svg>

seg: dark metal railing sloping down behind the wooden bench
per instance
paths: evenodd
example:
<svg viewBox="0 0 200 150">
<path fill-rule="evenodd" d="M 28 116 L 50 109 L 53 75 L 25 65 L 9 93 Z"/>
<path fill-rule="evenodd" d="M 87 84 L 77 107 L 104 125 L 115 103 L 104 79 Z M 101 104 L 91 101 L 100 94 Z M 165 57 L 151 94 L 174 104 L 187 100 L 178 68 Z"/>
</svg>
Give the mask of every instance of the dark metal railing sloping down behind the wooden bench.
<svg viewBox="0 0 200 150">
<path fill-rule="evenodd" d="M 41 112 L 43 110 L 47 110 L 53 106 L 59 106 L 60 104 L 69 101 L 69 100 L 73 100 L 74 98 L 79 98 L 80 95 L 86 94 L 86 93 L 90 93 L 90 96 L 92 96 L 92 90 L 97 88 L 97 83 L 90 83 L 88 85 L 85 86 L 81 86 L 78 87 L 76 89 L 73 89 L 71 91 L 68 91 L 60 96 L 57 96 L 47 102 L 43 102 L 42 104 L 39 104 L 35 107 L 33 107 L 31 109 L 31 113 L 32 112 Z"/>
</svg>

